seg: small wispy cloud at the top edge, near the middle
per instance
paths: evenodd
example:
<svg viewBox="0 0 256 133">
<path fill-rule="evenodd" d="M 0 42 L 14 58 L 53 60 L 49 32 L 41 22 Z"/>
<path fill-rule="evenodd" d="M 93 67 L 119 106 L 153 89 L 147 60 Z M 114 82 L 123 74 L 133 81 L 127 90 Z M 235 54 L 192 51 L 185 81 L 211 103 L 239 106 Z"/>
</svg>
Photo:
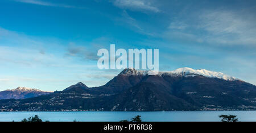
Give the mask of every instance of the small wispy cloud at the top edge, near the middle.
<svg viewBox="0 0 256 133">
<path fill-rule="evenodd" d="M 158 13 L 160 10 L 152 4 L 152 1 L 144 0 L 115 0 L 114 5 L 121 9 L 152 11 Z"/>
</svg>

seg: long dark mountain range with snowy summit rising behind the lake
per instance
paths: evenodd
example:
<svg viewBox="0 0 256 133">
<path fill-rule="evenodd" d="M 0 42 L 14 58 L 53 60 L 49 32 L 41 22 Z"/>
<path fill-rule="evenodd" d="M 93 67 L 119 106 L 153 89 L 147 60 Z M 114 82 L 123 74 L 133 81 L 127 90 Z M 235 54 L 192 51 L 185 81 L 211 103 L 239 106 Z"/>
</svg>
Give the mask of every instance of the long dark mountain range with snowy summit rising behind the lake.
<svg viewBox="0 0 256 133">
<path fill-rule="evenodd" d="M 27 99 L 0 100 L 0 111 L 256 110 L 256 86 L 220 72 L 124 69 L 107 84 L 81 82 Z"/>
</svg>

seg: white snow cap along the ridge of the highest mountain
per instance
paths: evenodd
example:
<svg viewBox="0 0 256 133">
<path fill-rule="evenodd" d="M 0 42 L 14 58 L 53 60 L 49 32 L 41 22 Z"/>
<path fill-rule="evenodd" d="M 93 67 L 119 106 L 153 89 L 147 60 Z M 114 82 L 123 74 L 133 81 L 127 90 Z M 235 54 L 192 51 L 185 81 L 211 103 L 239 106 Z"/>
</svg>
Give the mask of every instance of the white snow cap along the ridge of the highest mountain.
<svg viewBox="0 0 256 133">
<path fill-rule="evenodd" d="M 238 80 L 237 78 L 228 76 L 224 73 L 221 72 L 213 72 L 210 70 L 205 70 L 205 69 L 192 69 L 192 68 L 179 68 L 176 70 L 172 70 L 169 72 L 155 72 L 154 70 L 136 70 L 134 68 L 127 68 L 124 69 L 120 74 L 125 75 L 125 76 L 130 76 L 130 75 L 159 75 L 162 76 L 163 74 L 170 74 L 171 76 L 185 76 L 185 77 L 193 77 L 193 76 L 204 76 L 204 77 L 211 77 L 211 78 L 221 78 L 223 80 L 227 81 L 234 81 Z"/>
</svg>

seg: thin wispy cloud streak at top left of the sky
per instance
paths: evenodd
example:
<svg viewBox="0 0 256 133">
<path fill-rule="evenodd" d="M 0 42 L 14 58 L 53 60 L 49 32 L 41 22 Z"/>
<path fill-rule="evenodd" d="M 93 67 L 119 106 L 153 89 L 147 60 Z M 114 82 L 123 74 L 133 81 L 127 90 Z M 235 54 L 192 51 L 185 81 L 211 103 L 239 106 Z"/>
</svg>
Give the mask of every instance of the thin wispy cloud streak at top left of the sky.
<svg viewBox="0 0 256 133">
<path fill-rule="evenodd" d="M 84 9 L 84 7 L 77 7 L 77 6 L 72 6 L 72 5 L 66 5 L 63 3 L 52 3 L 52 2 L 39 1 L 39 0 L 15 0 L 15 1 L 22 2 L 22 3 L 30 3 L 30 4 L 34 4 L 34 5 L 41 5 L 41 6 L 54 6 L 54 7 Z"/>
</svg>

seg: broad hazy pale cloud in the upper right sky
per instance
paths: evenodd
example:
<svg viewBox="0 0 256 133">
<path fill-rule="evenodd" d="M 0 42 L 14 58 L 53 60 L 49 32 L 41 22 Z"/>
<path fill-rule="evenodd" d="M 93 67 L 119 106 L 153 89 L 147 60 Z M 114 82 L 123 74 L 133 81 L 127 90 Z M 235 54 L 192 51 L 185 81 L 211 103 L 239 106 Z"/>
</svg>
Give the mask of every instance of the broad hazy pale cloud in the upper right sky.
<svg viewBox="0 0 256 133">
<path fill-rule="evenodd" d="M 255 16 L 241 11 L 202 10 L 174 20 L 165 36 L 214 45 L 256 45 Z"/>
</svg>

